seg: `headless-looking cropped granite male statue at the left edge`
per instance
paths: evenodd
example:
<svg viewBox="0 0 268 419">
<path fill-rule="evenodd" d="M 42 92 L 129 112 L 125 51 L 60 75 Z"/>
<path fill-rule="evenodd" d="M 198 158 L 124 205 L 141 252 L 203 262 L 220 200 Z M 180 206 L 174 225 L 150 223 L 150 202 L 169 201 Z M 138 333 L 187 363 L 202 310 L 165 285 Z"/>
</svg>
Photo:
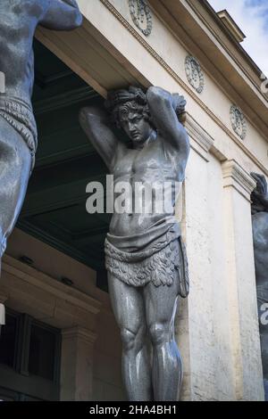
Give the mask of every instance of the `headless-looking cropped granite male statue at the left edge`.
<svg viewBox="0 0 268 419">
<path fill-rule="evenodd" d="M 38 25 L 71 30 L 82 16 L 75 0 L 1 0 L 0 71 L 0 263 L 13 231 L 34 166 L 38 144 L 31 107 L 33 37 Z"/>
</svg>

